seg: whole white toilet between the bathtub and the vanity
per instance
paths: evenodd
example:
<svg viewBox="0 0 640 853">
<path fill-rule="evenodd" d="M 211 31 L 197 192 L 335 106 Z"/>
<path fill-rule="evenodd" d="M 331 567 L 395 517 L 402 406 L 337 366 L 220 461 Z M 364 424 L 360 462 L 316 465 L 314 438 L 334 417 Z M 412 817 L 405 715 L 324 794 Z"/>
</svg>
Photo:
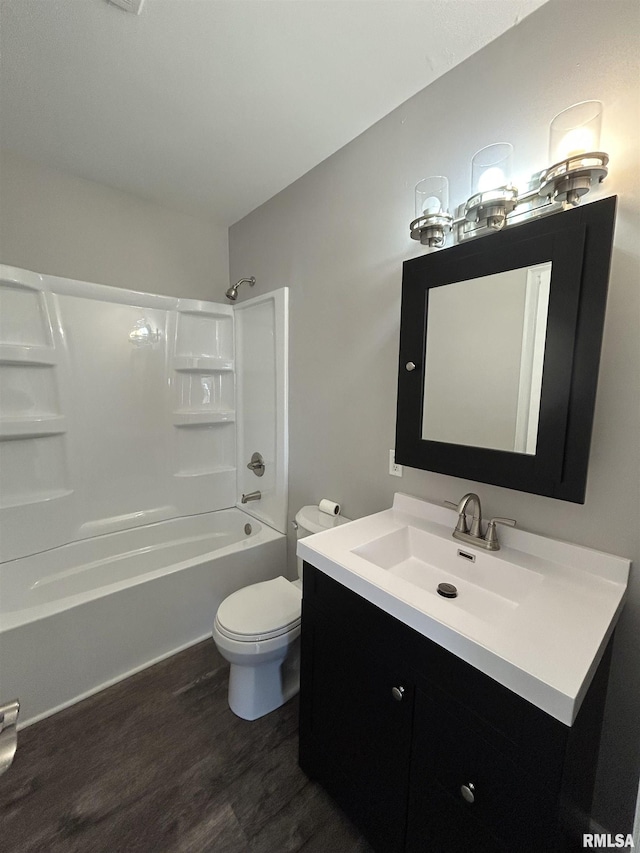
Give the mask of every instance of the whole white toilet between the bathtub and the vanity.
<svg viewBox="0 0 640 853">
<path fill-rule="evenodd" d="M 303 506 L 296 515 L 297 538 L 349 521 Z M 213 639 L 231 664 L 229 707 L 244 720 L 257 720 L 284 705 L 300 689 L 302 560 L 298 579 L 279 576 L 245 586 L 224 599 L 216 613 Z"/>
</svg>

